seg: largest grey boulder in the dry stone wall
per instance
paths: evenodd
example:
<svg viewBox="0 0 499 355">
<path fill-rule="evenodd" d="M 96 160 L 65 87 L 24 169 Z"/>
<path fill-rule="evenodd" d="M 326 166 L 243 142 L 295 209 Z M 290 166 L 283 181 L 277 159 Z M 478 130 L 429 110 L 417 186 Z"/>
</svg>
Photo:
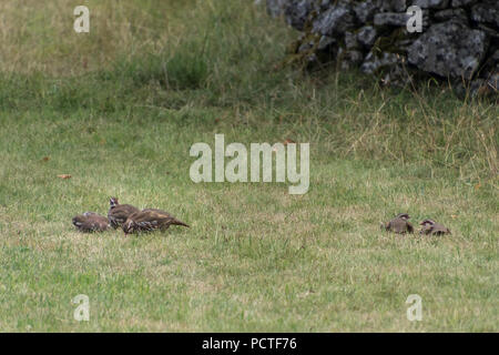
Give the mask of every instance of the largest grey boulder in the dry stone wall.
<svg viewBox="0 0 499 355">
<path fill-rule="evenodd" d="M 409 63 L 440 77 L 471 79 L 487 51 L 487 37 L 457 21 L 432 24 L 408 51 Z"/>
</svg>

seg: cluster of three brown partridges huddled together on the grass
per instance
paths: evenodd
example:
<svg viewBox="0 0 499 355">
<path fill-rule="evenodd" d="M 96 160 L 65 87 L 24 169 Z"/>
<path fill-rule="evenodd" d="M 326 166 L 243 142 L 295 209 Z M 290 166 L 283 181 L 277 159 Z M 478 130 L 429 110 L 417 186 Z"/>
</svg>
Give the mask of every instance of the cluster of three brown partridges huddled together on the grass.
<svg viewBox="0 0 499 355">
<path fill-rule="evenodd" d="M 157 209 L 139 210 L 131 204 L 120 204 L 116 197 L 111 197 L 108 217 L 95 212 L 85 212 L 73 217 L 73 225 L 83 233 L 104 232 L 109 227 L 121 227 L 124 234 L 165 231 L 170 225 L 183 225 L 169 212 Z"/>
</svg>

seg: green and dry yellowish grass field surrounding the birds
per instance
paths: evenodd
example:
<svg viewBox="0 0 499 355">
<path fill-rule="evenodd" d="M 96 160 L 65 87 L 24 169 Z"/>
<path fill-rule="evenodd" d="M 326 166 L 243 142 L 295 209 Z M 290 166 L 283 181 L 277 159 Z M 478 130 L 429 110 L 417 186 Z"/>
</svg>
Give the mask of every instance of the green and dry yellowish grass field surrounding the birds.
<svg viewBox="0 0 499 355">
<path fill-rule="evenodd" d="M 88 34 L 80 2 L 0 4 L 0 331 L 499 329 L 497 104 L 281 67 L 296 33 L 253 1 L 84 3 Z M 308 193 L 193 183 L 215 133 L 309 142 Z M 74 231 L 112 195 L 191 229 Z M 380 232 L 399 212 L 452 235 Z"/>
</svg>

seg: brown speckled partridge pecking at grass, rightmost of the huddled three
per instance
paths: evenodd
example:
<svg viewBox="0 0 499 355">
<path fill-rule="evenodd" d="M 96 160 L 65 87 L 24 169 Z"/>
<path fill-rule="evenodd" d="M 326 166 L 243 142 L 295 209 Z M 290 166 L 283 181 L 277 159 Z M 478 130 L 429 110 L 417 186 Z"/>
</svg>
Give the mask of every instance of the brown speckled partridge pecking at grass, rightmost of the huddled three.
<svg viewBox="0 0 499 355">
<path fill-rule="evenodd" d="M 172 224 L 189 227 L 187 224 L 179 221 L 166 211 L 145 209 L 130 215 L 126 222 L 123 223 L 122 229 L 126 235 L 130 233 L 151 232 L 154 230 L 165 231 Z"/>
</svg>

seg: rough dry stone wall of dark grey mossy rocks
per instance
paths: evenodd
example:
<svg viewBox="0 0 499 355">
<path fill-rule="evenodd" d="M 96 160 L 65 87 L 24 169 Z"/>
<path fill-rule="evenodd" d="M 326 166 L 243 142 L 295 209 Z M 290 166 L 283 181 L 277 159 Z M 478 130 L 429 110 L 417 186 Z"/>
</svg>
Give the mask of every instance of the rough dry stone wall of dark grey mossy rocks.
<svg viewBox="0 0 499 355">
<path fill-rule="evenodd" d="M 301 31 L 293 52 L 306 63 L 357 67 L 385 84 L 431 75 L 498 94 L 499 0 L 267 0 L 267 11 Z"/>
</svg>

